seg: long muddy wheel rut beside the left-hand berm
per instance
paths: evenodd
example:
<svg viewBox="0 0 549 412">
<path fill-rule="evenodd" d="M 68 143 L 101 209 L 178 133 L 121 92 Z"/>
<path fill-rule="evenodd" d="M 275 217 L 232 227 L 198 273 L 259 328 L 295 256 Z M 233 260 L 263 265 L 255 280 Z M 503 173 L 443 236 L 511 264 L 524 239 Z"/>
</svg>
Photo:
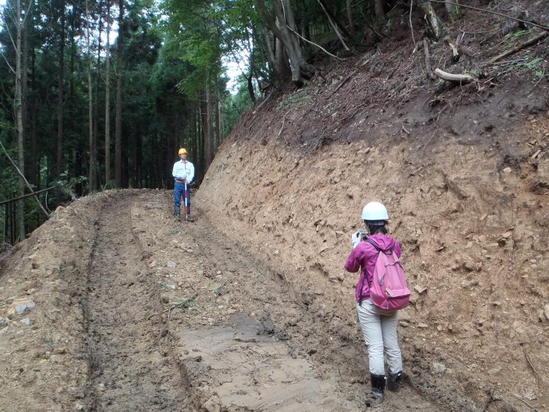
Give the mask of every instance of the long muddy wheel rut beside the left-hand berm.
<svg viewBox="0 0 549 412">
<path fill-rule="evenodd" d="M 119 194 L 97 221 L 84 315 L 88 330 L 91 411 L 187 411 L 185 380 L 173 357 L 159 290 L 143 264 L 130 208 Z M 158 344 L 160 343 L 160 344 Z"/>
</svg>

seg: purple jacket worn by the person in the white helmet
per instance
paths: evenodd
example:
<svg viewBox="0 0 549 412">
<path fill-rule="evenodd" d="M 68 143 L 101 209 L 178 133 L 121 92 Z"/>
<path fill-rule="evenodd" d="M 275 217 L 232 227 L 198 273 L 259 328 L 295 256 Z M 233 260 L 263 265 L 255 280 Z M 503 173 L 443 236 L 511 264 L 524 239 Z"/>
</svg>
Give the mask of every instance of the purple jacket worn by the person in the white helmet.
<svg viewBox="0 0 549 412">
<path fill-rule="evenodd" d="M 384 235 L 382 233 L 377 233 L 372 235 L 369 238 L 377 244 L 379 248 L 384 251 L 390 250 L 393 246 L 395 247 L 394 251 L 397 256 L 400 258 L 402 249 L 400 243 L 390 236 Z M 351 273 L 358 271 L 360 268 L 360 277 L 358 278 L 358 283 L 356 284 L 355 298 L 356 301 L 360 301 L 360 292 L 362 288 L 362 300 L 367 299 L 370 296 L 370 287 L 368 286 L 372 282 L 373 278 L 373 269 L 375 268 L 375 262 L 377 262 L 377 250 L 369 242 L 361 241 L 355 249 L 347 258 L 345 262 L 345 270 Z M 367 281 L 364 279 L 364 276 L 367 273 Z"/>
</svg>

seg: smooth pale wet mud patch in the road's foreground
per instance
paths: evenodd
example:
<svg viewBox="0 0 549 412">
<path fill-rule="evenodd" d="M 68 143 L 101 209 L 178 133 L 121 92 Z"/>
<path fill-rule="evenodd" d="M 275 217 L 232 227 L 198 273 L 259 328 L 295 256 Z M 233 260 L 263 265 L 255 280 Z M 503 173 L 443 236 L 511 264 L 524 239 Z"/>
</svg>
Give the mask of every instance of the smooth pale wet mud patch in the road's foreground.
<svg viewBox="0 0 549 412">
<path fill-rule="evenodd" d="M 261 325 L 259 325 L 261 328 Z M 307 358 L 292 357 L 292 350 L 274 336 L 258 334 L 258 325 L 245 315 L 229 326 L 189 330 L 180 334 L 196 363 L 207 365 L 218 386 L 223 407 L 254 411 L 335 411 L 354 409 L 334 393 L 336 382 L 316 378 Z M 203 369 L 203 368 L 200 368 Z M 205 376 L 202 376 L 205 378 Z"/>
</svg>

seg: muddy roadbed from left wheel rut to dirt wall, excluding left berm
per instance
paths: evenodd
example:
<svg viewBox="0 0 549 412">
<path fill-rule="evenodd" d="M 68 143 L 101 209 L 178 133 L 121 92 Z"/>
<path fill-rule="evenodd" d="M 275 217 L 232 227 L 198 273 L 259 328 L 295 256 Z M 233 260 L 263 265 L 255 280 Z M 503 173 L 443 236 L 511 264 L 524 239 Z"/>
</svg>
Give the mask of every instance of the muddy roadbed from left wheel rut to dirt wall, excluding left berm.
<svg viewBox="0 0 549 412">
<path fill-rule="evenodd" d="M 311 296 L 296 295 L 200 211 L 179 223 L 171 210 L 170 192 L 146 191 L 113 198 L 100 214 L 86 299 L 91 409 L 368 409 L 358 325 L 341 336 L 309 311 Z M 378 409 L 464 405 L 403 386 Z"/>
</svg>

